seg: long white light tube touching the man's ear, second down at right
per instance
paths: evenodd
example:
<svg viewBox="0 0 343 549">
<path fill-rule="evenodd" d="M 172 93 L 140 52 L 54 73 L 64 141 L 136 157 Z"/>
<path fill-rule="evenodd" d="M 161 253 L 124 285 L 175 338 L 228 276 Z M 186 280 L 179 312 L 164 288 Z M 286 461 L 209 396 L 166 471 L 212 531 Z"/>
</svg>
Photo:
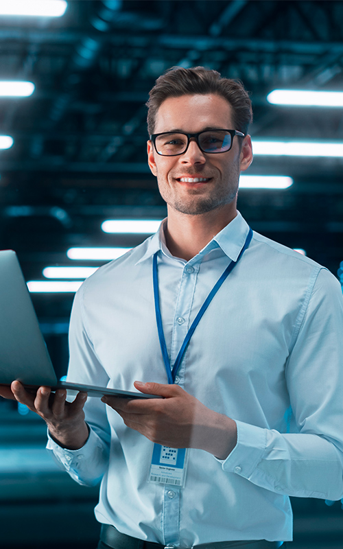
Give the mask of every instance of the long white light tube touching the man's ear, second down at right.
<svg viewBox="0 0 343 549">
<path fill-rule="evenodd" d="M 333 156 L 343 157 L 343 142 L 324 141 L 252 141 L 252 152 L 255 155 L 270 156 Z"/>
</svg>

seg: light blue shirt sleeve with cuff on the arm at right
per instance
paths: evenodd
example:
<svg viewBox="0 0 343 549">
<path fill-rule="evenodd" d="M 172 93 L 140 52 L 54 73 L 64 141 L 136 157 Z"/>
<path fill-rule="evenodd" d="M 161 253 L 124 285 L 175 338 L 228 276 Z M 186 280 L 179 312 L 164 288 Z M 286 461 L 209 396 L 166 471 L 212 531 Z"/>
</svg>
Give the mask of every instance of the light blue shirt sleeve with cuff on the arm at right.
<svg viewBox="0 0 343 549">
<path fill-rule="evenodd" d="M 237 421 L 237 445 L 224 471 L 284 495 L 343 496 L 343 299 L 326 269 L 318 273 L 285 378 L 296 432 Z"/>
</svg>

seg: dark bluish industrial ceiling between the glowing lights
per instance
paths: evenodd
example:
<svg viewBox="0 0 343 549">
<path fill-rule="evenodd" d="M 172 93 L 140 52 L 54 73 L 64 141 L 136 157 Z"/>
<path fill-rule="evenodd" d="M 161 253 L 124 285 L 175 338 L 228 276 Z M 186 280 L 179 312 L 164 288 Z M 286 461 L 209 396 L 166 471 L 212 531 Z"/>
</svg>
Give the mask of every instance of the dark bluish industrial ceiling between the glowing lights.
<svg viewBox="0 0 343 549">
<path fill-rule="evenodd" d="M 204 65 L 251 93 L 253 139 L 343 139 L 342 108 L 271 105 L 274 89 L 342 91 L 342 1 L 69 0 L 60 18 L 0 16 L 0 80 L 30 97 L 0 98 L 1 248 L 26 279 L 69 265 L 71 246 L 133 246 L 109 218 L 163 218 L 146 163 L 148 91 L 169 67 Z M 343 146 L 343 145 L 342 145 Z M 343 260 L 343 159 L 256 156 L 250 174 L 291 176 L 285 190 L 248 190 L 252 228 L 334 274 Z M 88 262 L 88 264 L 94 264 Z M 72 296 L 36 295 L 38 314 L 67 318 Z"/>
</svg>

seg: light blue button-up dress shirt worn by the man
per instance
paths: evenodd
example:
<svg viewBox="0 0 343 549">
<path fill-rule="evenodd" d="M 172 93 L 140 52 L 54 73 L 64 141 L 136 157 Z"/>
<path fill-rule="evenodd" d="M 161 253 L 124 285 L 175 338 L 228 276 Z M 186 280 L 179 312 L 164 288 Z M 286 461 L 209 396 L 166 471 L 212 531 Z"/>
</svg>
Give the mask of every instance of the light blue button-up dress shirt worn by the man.
<svg viewBox="0 0 343 549">
<path fill-rule="evenodd" d="M 190 261 L 163 227 L 89 277 L 75 296 L 68 380 L 134 390 L 167 383 L 158 342 L 152 257 L 171 364 L 204 299 L 244 246 L 240 214 Z M 200 320 L 176 383 L 237 422 L 226 460 L 190 449 L 184 488 L 147 482 L 152 443 L 88 398 L 80 450 L 48 448 L 81 484 L 102 479 L 95 515 L 165 545 L 292 539 L 289 495 L 343 495 L 343 298 L 327 269 L 254 233 Z"/>
</svg>

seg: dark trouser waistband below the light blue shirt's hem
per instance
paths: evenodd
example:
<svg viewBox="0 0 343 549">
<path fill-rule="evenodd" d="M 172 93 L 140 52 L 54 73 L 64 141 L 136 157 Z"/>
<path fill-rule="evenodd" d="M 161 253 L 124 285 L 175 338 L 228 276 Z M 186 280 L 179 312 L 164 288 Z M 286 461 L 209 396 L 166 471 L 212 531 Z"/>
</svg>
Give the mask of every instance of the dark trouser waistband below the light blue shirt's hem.
<svg viewBox="0 0 343 549">
<path fill-rule="evenodd" d="M 110 524 L 102 524 L 100 539 L 103 544 L 113 549 L 234 549 L 236 547 L 237 549 L 278 549 L 283 545 L 283 541 L 259 539 L 256 541 L 215 541 L 209 544 L 195 545 L 193 548 L 176 548 L 122 534 Z"/>
</svg>

